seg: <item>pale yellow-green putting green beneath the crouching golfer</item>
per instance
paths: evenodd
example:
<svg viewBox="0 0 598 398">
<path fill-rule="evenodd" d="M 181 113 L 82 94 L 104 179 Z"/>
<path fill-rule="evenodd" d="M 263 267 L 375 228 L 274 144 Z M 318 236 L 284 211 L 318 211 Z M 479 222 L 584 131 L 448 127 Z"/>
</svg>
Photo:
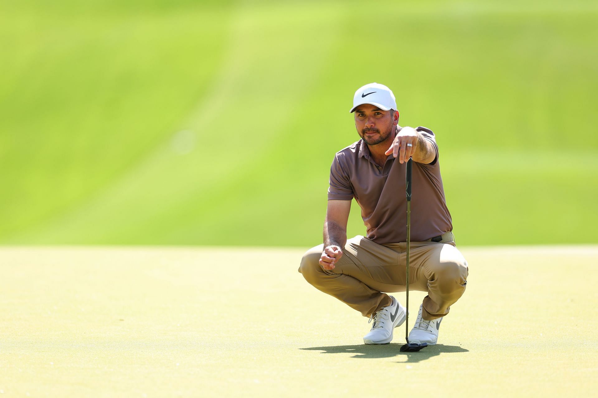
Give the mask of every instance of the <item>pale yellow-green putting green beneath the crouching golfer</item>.
<svg viewBox="0 0 598 398">
<path fill-rule="evenodd" d="M 1 248 L 7 396 L 587 396 L 598 246 L 462 248 L 440 344 L 364 345 L 300 249 Z M 396 294 L 404 301 L 404 294 Z M 413 293 L 411 313 L 423 297 Z M 410 320 L 413 323 L 413 320 Z"/>
</svg>

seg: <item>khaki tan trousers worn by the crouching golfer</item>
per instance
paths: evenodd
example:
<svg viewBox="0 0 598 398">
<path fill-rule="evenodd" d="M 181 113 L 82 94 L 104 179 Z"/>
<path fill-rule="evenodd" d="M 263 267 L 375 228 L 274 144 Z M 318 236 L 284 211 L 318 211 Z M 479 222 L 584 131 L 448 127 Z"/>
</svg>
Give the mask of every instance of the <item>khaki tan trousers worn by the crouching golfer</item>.
<svg viewBox="0 0 598 398">
<path fill-rule="evenodd" d="M 379 245 L 364 236 L 347 240 L 343 257 L 332 270 L 318 263 L 324 245 L 303 255 L 299 272 L 315 288 L 343 301 L 364 316 L 389 306 L 382 292 L 405 291 L 407 243 Z M 445 316 L 467 284 L 467 261 L 453 242 L 411 242 L 409 290 L 428 292 L 423 299 L 426 320 Z"/>
</svg>

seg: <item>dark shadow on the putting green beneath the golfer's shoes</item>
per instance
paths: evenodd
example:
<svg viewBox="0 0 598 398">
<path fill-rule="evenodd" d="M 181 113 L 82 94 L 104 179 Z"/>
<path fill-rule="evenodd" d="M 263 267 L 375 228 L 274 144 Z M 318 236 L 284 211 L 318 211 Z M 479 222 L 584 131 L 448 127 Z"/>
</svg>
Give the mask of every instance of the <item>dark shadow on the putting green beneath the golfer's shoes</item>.
<svg viewBox="0 0 598 398">
<path fill-rule="evenodd" d="M 406 358 L 403 362 L 421 362 L 440 355 L 441 353 L 466 353 L 466 350 L 459 345 L 435 344 L 429 345 L 416 353 L 401 352 L 401 345 L 391 344 L 358 344 L 358 345 L 333 345 L 332 347 L 310 347 L 299 348 L 300 350 L 324 351 L 322 354 L 355 354 L 352 358 Z"/>
</svg>

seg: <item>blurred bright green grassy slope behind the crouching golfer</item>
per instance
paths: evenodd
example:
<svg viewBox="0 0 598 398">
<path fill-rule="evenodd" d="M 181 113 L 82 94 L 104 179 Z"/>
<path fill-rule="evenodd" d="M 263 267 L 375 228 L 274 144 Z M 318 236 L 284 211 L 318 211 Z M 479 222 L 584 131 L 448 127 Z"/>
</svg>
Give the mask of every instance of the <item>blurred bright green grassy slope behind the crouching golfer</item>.
<svg viewBox="0 0 598 398">
<path fill-rule="evenodd" d="M 1 1 L 0 243 L 316 245 L 374 81 L 400 125 L 437 135 L 457 243 L 596 243 L 597 17 L 575 0 Z"/>
</svg>

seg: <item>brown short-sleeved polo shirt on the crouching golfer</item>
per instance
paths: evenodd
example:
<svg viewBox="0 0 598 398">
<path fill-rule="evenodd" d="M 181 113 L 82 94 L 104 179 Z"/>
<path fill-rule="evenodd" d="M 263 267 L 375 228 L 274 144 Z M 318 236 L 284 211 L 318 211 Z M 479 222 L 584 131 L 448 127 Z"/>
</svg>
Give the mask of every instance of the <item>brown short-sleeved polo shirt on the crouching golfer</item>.
<svg viewBox="0 0 598 398">
<path fill-rule="evenodd" d="M 400 128 L 399 128 L 400 129 Z M 432 163 L 413 162 L 411 187 L 411 241 L 421 242 L 453 230 L 449 209 L 444 199 L 443 180 L 438 163 L 438 146 L 434 133 L 418 127 L 436 149 Z M 407 240 L 407 199 L 405 168 L 392 154 L 384 167 L 370 157 L 368 146 L 359 140 L 340 150 L 330 168 L 328 200 L 355 198 L 367 236 L 376 243 L 398 243 Z"/>
</svg>

